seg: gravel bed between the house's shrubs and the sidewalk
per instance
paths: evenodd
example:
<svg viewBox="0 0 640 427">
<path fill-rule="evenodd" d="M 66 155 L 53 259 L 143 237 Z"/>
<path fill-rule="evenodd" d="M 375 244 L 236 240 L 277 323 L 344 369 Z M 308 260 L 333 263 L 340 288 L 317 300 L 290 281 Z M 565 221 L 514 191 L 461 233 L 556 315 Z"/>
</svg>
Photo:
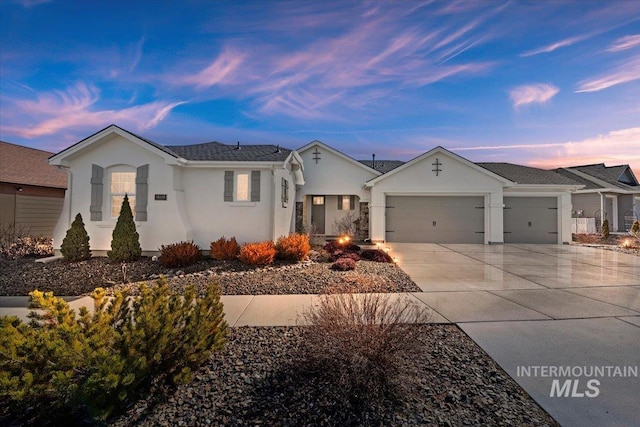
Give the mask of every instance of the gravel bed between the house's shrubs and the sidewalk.
<svg viewBox="0 0 640 427">
<path fill-rule="evenodd" d="M 135 293 L 135 282 L 151 282 L 161 275 L 176 289 L 189 283 L 197 288 L 219 283 L 224 295 L 318 294 L 337 284 L 351 285 L 357 292 L 420 291 L 393 264 L 359 261 L 356 270 L 347 272 L 333 271 L 330 266 L 326 262 L 302 262 L 254 268 L 239 261 L 203 259 L 183 269 L 169 269 L 149 258 L 125 265 L 101 257 L 48 264 L 20 258 L 0 260 L 0 295 L 28 295 L 34 289 L 59 296 L 84 295 L 99 286 L 109 290 L 130 288 Z"/>
</svg>

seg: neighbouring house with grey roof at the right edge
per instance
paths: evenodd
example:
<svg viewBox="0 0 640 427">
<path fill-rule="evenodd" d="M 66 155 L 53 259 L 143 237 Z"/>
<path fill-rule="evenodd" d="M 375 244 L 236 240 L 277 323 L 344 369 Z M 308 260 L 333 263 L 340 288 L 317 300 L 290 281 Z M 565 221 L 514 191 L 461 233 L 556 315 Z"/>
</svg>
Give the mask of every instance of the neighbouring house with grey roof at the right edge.
<svg viewBox="0 0 640 427">
<path fill-rule="evenodd" d="M 640 185 L 629 165 L 604 163 L 556 169 L 584 185 L 572 195 L 574 218 L 595 218 L 600 229 L 609 220 L 610 231 L 627 231 L 640 217 Z"/>
</svg>

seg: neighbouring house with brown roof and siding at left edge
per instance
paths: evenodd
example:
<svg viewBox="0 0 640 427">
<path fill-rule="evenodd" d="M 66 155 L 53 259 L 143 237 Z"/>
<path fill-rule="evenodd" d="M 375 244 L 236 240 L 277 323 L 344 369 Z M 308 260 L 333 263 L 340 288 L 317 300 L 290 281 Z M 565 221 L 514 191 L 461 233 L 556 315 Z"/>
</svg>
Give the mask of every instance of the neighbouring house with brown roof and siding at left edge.
<svg viewBox="0 0 640 427">
<path fill-rule="evenodd" d="M 0 230 L 53 236 L 67 174 L 47 164 L 53 153 L 0 141 Z"/>
</svg>

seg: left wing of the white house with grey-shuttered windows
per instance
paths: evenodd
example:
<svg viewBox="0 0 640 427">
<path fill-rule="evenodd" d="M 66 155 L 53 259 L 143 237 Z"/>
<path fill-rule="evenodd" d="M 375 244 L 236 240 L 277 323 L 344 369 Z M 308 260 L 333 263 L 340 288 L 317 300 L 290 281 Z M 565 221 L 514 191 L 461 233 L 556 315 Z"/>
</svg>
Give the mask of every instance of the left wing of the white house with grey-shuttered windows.
<svg viewBox="0 0 640 427">
<path fill-rule="evenodd" d="M 54 235 L 60 244 L 81 213 L 93 254 L 110 249 L 125 194 L 144 253 L 193 240 L 203 249 L 221 236 L 275 240 L 294 228 L 296 186 L 304 184 L 295 151 L 275 145 L 218 142 L 162 146 L 111 125 L 49 159 L 69 174 Z"/>
</svg>

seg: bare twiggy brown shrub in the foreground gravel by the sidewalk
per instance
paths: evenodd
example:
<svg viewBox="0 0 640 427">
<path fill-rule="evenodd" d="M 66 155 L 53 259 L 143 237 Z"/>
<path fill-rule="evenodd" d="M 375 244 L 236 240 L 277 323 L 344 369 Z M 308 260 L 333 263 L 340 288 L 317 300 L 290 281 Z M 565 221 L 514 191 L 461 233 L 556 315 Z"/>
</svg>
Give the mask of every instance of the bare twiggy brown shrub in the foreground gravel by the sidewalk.
<svg viewBox="0 0 640 427">
<path fill-rule="evenodd" d="M 334 293 L 334 292 L 341 293 Z M 429 312 L 407 299 L 334 289 L 303 313 L 300 368 L 328 380 L 327 390 L 356 411 L 375 411 L 410 391 L 415 375 L 403 360 L 416 357 Z M 377 424 L 377 423 L 374 423 Z"/>
</svg>

